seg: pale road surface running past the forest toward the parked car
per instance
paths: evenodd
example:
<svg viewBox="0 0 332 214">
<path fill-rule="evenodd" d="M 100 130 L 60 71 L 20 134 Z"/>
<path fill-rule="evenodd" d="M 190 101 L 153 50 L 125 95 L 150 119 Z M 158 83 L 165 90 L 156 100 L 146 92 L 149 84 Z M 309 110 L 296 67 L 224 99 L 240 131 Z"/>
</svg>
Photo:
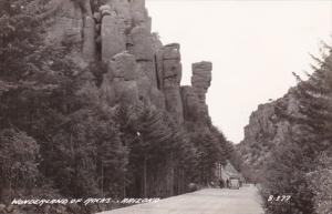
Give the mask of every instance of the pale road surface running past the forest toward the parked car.
<svg viewBox="0 0 332 214">
<path fill-rule="evenodd" d="M 253 185 L 240 190 L 205 188 L 194 193 L 98 214 L 263 214 Z"/>
</svg>

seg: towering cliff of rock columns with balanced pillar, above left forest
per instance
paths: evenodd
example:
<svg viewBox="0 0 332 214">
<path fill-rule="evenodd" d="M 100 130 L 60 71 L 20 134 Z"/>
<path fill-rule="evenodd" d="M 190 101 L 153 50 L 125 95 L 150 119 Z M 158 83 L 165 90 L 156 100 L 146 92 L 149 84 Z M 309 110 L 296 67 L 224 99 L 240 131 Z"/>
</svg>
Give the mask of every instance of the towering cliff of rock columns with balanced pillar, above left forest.
<svg viewBox="0 0 332 214">
<path fill-rule="evenodd" d="M 178 122 L 208 119 L 205 96 L 211 63 L 193 64 L 191 86 L 180 86 L 178 43 L 163 45 L 151 32 L 144 0 L 56 0 L 48 41 L 71 45 L 69 58 L 84 69 L 107 65 L 101 91 L 110 105 L 120 100 L 167 110 Z"/>
</svg>

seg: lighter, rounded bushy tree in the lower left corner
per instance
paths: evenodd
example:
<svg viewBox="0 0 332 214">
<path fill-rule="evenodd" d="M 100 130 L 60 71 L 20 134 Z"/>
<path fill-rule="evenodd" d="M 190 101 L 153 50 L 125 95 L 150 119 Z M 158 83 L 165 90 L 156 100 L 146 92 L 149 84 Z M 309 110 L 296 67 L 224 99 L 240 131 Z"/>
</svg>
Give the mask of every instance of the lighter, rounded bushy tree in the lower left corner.
<svg viewBox="0 0 332 214">
<path fill-rule="evenodd" d="M 0 200 L 29 194 L 40 179 L 39 145 L 27 133 L 12 128 L 0 132 Z"/>
</svg>

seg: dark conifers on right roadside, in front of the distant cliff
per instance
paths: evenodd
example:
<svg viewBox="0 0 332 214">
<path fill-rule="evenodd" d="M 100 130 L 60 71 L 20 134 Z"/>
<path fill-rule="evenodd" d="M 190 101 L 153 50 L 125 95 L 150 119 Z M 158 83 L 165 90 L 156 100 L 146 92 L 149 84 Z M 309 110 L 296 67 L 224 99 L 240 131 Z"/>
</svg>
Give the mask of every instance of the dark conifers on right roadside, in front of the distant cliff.
<svg viewBox="0 0 332 214">
<path fill-rule="evenodd" d="M 325 203 L 320 197 L 324 194 L 320 184 L 329 188 L 331 179 L 318 181 L 314 175 L 318 169 L 325 172 L 317 160 L 322 152 L 332 147 L 331 53 L 323 60 L 317 59 L 319 68 L 314 67 L 308 81 L 302 81 L 295 74 L 299 84 L 291 93 L 298 101 L 298 113 L 289 115 L 284 109 L 278 109 L 278 115 L 288 120 L 292 129 L 288 141 L 274 146 L 264 164 L 264 187 L 268 194 L 283 192 L 291 194 L 292 200 L 283 207 L 268 203 L 271 213 L 311 214 L 321 212 L 319 204 Z"/>
</svg>

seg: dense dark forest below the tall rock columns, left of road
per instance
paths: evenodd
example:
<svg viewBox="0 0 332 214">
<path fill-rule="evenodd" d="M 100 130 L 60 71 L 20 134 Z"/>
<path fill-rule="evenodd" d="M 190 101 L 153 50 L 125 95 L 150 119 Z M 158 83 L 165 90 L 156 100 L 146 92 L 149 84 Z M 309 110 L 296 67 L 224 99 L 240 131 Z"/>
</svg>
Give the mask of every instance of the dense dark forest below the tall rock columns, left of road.
<svg viewBox="0 0 332 214">
<path fill-rule="evenodd" d="M 0 0 L 0 213 L 105 206 L 9 205 L 13 198 L 167 197 L 205 185 L 232 144 L 209 119 L 179 123 L 144 100 L 111 105 L 102 61 L 82 69 L 68 58 L 74 43 L 45 42 L 50 2 Z"/>
</svg>

